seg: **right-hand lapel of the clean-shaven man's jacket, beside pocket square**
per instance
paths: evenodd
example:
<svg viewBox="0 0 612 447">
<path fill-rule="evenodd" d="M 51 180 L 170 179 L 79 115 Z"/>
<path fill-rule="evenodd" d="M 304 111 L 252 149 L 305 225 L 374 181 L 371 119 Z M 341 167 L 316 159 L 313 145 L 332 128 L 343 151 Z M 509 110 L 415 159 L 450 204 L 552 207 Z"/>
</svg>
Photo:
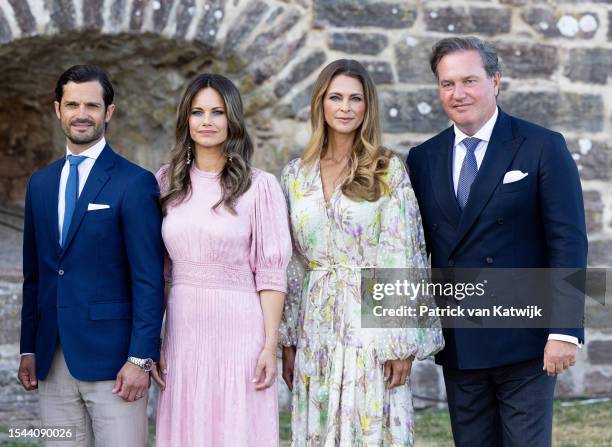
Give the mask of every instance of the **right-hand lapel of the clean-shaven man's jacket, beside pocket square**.
<svg viewBox="0 0 612 447">
<path fill-rule="evenodd" d="M 523 140 L 523 136 L 513 135 L 510 117 L 500 109 L 487 152 L 472 184 L 468 203 L 461 215 L 451 253 L 457 248 L 491 198 Z"/>
</svg>

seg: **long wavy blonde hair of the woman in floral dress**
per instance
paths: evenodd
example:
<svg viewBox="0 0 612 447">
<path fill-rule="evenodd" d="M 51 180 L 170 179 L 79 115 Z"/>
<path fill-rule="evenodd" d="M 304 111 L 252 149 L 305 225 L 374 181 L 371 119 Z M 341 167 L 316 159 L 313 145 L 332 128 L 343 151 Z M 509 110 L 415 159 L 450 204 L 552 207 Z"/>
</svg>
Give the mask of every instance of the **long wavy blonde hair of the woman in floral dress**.
<svg viewBox="0 0 612 447">
<path fill-rule="evenodd" d="M 310 103 L 312 135 L 302 161 L 312 166 L 325 155 L 328 143 L 328 125 L 325 122 L 323 101 L 331 81 L 340 75 L 361 82 L 365 99 L 363 122 L 355 131 L 353 151 L 348 161 L 348 175 L 342 183 L 342 192 L 353 200 L 376 201 L 389 191 L 384 176 L 389 166 L 391 151 L 381 145 L 381 126 L 376 86 L 366 69 L 352 59 L 339 59 L 327 65 L 317 78 Z"/>
</svg>

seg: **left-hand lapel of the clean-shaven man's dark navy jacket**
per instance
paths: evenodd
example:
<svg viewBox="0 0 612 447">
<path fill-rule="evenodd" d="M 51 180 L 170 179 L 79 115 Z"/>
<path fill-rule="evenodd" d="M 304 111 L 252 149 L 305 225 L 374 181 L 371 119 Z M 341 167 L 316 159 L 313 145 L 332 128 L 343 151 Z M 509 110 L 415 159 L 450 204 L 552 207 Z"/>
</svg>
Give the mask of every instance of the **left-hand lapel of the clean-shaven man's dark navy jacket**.
<svg viewBox="0 0 612 447">
<path fill-rule="evenodd" d="M 431 176 L 433 179 L 434 196 L 449 222 L 457 227 L 461 218 L 461 209 L 455 198 L 453 188 L 453 143 L 455 133 L 450 127 L 441 135 L 442 149 L 438 150 L 432 157 Z"/>
</svg>

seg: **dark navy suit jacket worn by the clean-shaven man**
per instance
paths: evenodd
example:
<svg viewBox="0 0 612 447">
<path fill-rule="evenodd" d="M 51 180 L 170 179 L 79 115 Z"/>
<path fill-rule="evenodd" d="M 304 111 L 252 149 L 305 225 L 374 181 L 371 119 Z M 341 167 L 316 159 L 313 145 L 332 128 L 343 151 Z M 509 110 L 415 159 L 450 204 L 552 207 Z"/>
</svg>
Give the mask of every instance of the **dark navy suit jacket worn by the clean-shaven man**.
<svg viewBox="0 0 612 447">
<path fill-rule="evenodd" d="M 454 140 L 451 126 L 408 154 L 432 268 L 586 267 L 580 178 L 561 134 L 499 110 L 463 212 L 453 187 Z M 512 170 L 528 175 L 504 185 Z M 576 328 L 444 329 L 436 362 L 476 369 L 541 358 L 549 333 L 584 338 Z"/>
</svg>

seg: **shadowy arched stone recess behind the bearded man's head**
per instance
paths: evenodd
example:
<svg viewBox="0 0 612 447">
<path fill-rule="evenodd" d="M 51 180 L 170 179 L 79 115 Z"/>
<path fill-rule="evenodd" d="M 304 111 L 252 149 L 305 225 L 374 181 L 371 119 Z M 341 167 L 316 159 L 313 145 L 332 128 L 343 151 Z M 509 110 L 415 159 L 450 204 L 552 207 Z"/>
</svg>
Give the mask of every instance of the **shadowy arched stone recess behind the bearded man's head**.
<svg viewBox="0 0 612 447">
<path fill-rule="evenodd" d="M 237 57 L 155 34 L 74 32 L 11 42 L 0 48 L 0 203 L 21 204 L 29 175 L 63 154 L 53 89 L 59 75 L 79 63 L 103 67 L 114 84 L 109 142 L 152 170 L 166 160 L 176 105 L 194 75 L 213 71 L 245 84 Z"/>
</svg>

